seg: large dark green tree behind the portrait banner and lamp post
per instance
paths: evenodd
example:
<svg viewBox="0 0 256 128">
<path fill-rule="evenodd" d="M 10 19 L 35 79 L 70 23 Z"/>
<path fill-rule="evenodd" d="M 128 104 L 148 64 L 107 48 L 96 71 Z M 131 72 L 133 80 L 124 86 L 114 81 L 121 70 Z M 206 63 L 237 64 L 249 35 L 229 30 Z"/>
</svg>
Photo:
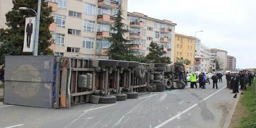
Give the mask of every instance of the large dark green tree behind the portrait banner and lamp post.
<svg viewBox="0 0 256 128">
<path fill-rule="evenodd" d="M 4 61 L 4 55 L 32 55 L 33 53 L 22 52 L 24 41 L 24 30 L 26 17 L 35 17 L 35 13 L 31 10 L 19 10 L 19 7 L 27 7 L 37 10 L 37 0 L 13 0 L 13 9 L 6 13 L 6 22 L 9 28 L 0 29 L 0 64 Z M 54 22 L 50 17 L 51 7 L 47 2 L 41 2 L 41 16 L 39 27 L 39 54 L 50 55 L 52 50 L 48 47 L 51 42 L 51 34 L 49 26 Z"/>
</svg>

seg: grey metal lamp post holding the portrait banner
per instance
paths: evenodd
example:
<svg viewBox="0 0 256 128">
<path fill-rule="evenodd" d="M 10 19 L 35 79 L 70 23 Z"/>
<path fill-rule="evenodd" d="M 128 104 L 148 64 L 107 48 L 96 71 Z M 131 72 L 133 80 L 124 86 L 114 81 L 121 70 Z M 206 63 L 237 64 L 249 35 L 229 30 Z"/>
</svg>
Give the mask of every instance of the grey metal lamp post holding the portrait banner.
<svg viewBox="0 0 256 128">
<path fill-rule="evenodd" d="M 38 0 L 37 12 L 34 9 L 29 9 L 27 7 L 20 7 L 20 10 L 32 10 L 35 12 L 36 18 L 36 29 L 35 29 L 35 40 L 34 40 L 34 50 L 33 55 L 38 55 L 38 41 L 39 41 L 39 25 L 40 25 L 40 13 L 41 13 L 41 0 Z"/>
</svg>

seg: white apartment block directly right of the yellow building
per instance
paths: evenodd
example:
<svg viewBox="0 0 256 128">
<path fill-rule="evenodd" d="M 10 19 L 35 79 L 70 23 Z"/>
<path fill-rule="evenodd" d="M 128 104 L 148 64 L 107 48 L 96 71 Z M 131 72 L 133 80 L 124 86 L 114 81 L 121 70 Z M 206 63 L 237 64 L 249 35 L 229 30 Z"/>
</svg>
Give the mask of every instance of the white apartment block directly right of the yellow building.
<svg viewBox="0 0 256 128">
<path fill-rule="evenodd" d="M 200 61 L 200 59 L 202 59 Z M 195 71 L 208 72 L 210 68 L 210 48 L 197 40 L 195 43 Z M 202 72 L 202 71 L 201 71 Z"/>
</svg>

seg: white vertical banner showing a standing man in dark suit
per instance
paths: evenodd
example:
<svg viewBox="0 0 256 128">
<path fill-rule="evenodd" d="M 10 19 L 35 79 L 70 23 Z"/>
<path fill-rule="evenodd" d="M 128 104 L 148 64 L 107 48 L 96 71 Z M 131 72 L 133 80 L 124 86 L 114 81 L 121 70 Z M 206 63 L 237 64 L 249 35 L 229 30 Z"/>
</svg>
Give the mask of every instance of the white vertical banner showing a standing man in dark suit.
<svg viewBox="0 0 256 128">
<path fill-rule="evenodd" d="M 35 21 L 36 17 L 26 18 L 23 52 L 33 52 L 35 40 Z"/>
</svg>

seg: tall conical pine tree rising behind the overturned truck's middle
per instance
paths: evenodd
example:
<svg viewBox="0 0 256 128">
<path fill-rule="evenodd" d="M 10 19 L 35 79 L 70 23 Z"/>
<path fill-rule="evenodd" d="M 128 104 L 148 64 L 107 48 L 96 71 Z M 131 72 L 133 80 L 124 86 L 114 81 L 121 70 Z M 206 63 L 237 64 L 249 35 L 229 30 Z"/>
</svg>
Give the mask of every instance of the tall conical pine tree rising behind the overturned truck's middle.
<svg viewBox="0 0 256 128">
<path fill-rule="evenodd" d="M 125 29 L 126 24 L 122 22 L 122 20 L 124 20 L 122 15 L 123 10 L 120 3 L 117 9 L 117 14 L 115 15 L 116 20 L 113 26 L 111 26 L 111 30 L 117 33 L 113 33 L 112 37 L 108 38 L 111 46 L 106 51 L 106 54 L 109 59 L 131 61 L 134 59 L 134 56 L 132 55 L 133 52 L 130 49 L 132 45 L 127 44 L 130 40 L 124 38 L 124 34 L 129 31 Z"/>
</svg>

